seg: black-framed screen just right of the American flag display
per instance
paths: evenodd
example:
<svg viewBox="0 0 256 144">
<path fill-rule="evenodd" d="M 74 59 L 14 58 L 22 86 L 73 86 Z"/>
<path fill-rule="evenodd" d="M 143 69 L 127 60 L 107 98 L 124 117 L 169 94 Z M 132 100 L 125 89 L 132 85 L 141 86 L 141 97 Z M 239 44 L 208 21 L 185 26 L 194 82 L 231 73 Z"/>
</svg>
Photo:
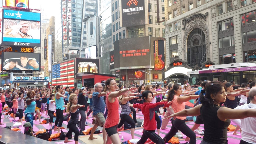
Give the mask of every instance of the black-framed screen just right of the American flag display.
<svg viewBox="0 0 256 144">
<path fill-rule="evenodd" d="M 100 73 L 100 60 L 90 58 L 76 58 L 76 73 Z"/>
</svg>

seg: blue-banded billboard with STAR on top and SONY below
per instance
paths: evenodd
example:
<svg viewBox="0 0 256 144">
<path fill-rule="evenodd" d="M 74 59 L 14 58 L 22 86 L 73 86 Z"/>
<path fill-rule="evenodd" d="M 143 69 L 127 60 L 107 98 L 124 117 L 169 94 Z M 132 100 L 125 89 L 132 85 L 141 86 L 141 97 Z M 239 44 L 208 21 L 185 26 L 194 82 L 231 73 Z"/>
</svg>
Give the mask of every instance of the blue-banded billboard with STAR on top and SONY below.
<svg viewBox="0 0 256 144">
<path fill-rule="evenodd" d="M 3 11 L 2 45 L 41 46 L 41 13 Z"/>
</svg>

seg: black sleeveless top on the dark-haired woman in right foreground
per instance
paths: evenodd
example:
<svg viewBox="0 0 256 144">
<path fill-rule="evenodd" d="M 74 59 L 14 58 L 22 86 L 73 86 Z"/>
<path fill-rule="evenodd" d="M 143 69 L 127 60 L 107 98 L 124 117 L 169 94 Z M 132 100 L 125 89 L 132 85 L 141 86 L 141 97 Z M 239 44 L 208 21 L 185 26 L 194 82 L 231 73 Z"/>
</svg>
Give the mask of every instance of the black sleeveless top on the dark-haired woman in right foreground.
<svg viewBox="0 0 256 144">
<path fill-rule="evenodd" d="M 203 140 L 211 144 L 227 144 L 227 128 L 230 125 L 230 119 L 221 121 L 217 116 L 218 105 L 204 106 L 200 108 L 201 118 L 204 122 L 205 134 Z"/>
</svg>

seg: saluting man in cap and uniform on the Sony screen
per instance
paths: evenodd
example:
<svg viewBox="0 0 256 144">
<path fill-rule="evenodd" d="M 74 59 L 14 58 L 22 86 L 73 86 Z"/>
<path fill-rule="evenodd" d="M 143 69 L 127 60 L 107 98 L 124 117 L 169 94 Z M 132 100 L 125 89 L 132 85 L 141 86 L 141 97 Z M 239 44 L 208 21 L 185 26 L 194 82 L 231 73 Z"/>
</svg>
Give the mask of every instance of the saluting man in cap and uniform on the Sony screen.
<svg viewBox="0 0 256 144">
<path fill-rule="evenodd" d="M 10 28 L 6 28 L 4 32 L 4 37 L 15 37 L 15 38 L 33 38 L 28 35 L 29 25 L 27 21 L 20 21 L 18 25 L 13 25 Z M 19 29 L 17 32 L 12 32 L 15 29 Z"/>
</svg>

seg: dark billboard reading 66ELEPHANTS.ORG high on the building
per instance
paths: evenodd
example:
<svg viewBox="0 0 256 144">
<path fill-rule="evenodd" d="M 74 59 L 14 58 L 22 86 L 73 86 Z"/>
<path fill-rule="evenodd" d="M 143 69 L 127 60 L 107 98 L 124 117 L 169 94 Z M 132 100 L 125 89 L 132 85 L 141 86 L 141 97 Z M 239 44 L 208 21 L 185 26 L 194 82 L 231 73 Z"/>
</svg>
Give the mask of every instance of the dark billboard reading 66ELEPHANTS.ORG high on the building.
<svg viewBox="0 0 256 144">
<path fill-rule="evenodd" d="M 119 0 L 120 26 L 131 27 L 148 24 L 147 0 Z"/>
</svg>

